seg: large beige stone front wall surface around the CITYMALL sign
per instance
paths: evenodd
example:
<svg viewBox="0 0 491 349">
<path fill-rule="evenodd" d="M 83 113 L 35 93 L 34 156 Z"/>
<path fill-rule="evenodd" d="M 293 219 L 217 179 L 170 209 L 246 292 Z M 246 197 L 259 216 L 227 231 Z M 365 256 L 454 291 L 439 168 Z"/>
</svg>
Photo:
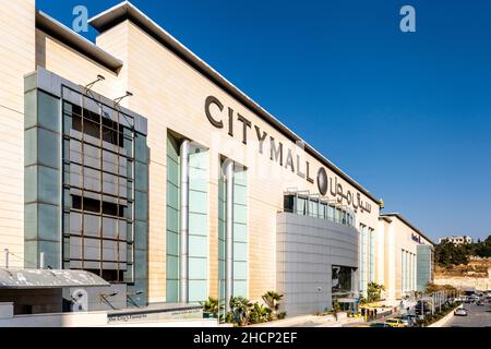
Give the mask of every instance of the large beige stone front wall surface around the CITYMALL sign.
<svg viewBox="0 0 491 349">
<path fill-rule="evenodd" d="M 276 213 L 283 209 L 283 193 L 287 188 L 310 190 L 316 193 L 315 184 L 301 179 L 290 169 L 282 168 L 270 159 L 270 149 L 259 153 L 254 130 L 249 130 L 248 144 L 242 143 L 241 123 L 235 121 L 235 136 L 227 129 L 215 129 L 206 119 L 204 101 L 208 96 L 217 97 L 225 106 L 233 109 L 267 132 L 285 148 L 296 149 L 295 143 L 275 130 L 263 119 L 230 97 L 221 88 L 203 76 L 188 63 L 165 48 L 135 24 L 125 21 L 119 26 L 128 31 L 128 89 L 134 93 L 128 107 L 148 119 L 148 144 L 151 147 L 151 292 L 154 299 L 165 297 L 165 173 L 166 132 L 172 130 L 209 148 L 212 176 L 209 180 L 209 293 L 217 292 L 217 178 L 218 157 L 225 155 L 248 167 L 249 171 L 249 294 L 259 299 L 265 291 L 274 289 L 275 280 L 275 231 Z M 105 32 L 98 43 L 110 41 L 116 32 Z M 110 47 L 101 46 L 109 53 Z M 217 116 L 218 117 L 218 116 Z M 226 115 L 221 116 L 224 119 Z M 298 151 L 311 168 L 321 164 L 303 151 Z M 304 169 L 303 169 L 304 170 Z M 315 173 L 311 173 L 314 177 Z M 338 176 L 344 188 L 356 190 Z M 358 220 L 376 228 L 379 206 L 370 202 L 372 212 L 358 215 Z M 158 275 L 158 277 L 156 277 Z"/>
</svg>

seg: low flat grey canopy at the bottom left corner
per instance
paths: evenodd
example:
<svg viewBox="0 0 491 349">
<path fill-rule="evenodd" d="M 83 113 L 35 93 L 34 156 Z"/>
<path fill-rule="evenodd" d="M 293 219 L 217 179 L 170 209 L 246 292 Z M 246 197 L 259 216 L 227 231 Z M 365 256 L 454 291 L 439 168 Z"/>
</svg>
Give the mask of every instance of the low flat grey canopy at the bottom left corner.
<svg viewBox="0 0 491 349">
<path fill-rule="evenodd" d="M 97 275 L 84 270 L 0 269 L 0 290 L 101 286 L 110 285 Z"/>
</svg>

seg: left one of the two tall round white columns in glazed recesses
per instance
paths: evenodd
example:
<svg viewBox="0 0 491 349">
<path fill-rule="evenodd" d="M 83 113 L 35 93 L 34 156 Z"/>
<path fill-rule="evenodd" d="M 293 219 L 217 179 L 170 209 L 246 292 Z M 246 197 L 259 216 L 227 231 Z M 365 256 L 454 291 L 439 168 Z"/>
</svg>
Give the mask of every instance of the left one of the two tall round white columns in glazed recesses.
<svg viewBox="0 0 491 349">
<path fill-rule="evenodd" d="M 181 144 L 181 210 L 179 218 L 179 302 L 188 303 L 188 254 L 189 254 L 189 141 L 184 140 Z"/>
</svg>

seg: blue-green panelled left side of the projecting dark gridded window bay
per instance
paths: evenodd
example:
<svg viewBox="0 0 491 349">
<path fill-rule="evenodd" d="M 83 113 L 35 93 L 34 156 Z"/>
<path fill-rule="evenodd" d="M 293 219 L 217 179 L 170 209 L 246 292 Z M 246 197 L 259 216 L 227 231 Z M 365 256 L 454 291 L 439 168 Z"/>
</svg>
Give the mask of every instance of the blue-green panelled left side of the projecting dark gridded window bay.
<svg viewBox="0 0 491 349">
<path fill-rule="evenodd" d="M 61 268 L 61 112 L 60 99 L 25 80 L 24 267 Z"/>
</svg>

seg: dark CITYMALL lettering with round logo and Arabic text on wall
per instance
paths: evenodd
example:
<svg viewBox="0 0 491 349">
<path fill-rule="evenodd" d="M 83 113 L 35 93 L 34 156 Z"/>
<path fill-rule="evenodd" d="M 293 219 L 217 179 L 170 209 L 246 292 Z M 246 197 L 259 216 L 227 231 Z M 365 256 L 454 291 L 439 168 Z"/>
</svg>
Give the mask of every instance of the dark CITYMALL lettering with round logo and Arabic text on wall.
<svg viewBox="0 0 491 349">
<path fill-rule="evenodd" d="M 226 110 L 227 109 L 227 110 Z M 279 166 L 296 172 L 300 178 L 307 180 L 309 183 L 314 183 L 314 179 L 311 178 L 311 164 L 306 160 L 302 161 L 301 156 L 297 155 L 294 159 L 294 153 L 291 148 L 286 148 L 284 144 L 276 141 L 275 137 L 268 135 L 267 132 L 261 130 L 259 125 L 253 125 L 252 122 L 233 111 L 232 108 L 227 107 L 216 97 L 208 96 L 205 100 L 205 113 L 208 121 L 217 129 L 227 129 L 228 134 L 233 137 L 236 134 L 235 125 L 236 121 L 241 123 L 241 130 L 239 133 L 242 137 L 242 143 L 248 145 L 248 139 L 250 132 L 253 132 L 259 142 L 259 153 L 264 154 L 264 144 L 270 144 L 270 159 L 277 163 Z M 224 120 L 227 120 L 225 125 Z M 338 183 L 337 177 L 327 176 L 327 170 L 324 167 L 319 168 L 316 173 L 316 182 L 319 192 L 322 196 L 331 194 L 339 204 L 345 202 L 348 206 L 351 206 L 355 210 L 371 212 L 371 205 L 368 202 L 361 200 L 361 194 L 356 194 L 348 190 L 346 193 L 343 190 L 342 183 Z"/>
</svg>

